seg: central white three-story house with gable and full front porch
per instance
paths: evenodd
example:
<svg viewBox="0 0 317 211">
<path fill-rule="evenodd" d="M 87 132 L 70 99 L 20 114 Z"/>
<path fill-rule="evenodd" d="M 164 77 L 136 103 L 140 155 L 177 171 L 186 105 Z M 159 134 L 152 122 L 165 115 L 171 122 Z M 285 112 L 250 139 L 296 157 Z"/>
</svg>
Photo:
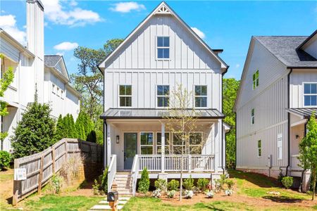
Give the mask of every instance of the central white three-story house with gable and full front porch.
<svg viewBox="0 0 317 211">
<path fill-rule="evenodd" d="M 221 51 L 210 49 L 162 2 L 99 65 L 105 84 L 101 118 L 109 190 L 114 180 L 119 193 L 135 193 L 145 167 L 151 179 L 180 178 L 180 155 L 175 150 L 181 143 L 163 120 L 173 98 L 170 92 L 178 84 L 193 92 L 198 129 L 191 136 L 205 143 L 198 155 L 192 155 L 194 145 L 186 141 L 184 177 L 215 179 L 225 172 L 228 126 L 221 111 L 228 65 L 218 56 Z M 132 174 L 120 173 L 127 171 Z"/>
</svg>

